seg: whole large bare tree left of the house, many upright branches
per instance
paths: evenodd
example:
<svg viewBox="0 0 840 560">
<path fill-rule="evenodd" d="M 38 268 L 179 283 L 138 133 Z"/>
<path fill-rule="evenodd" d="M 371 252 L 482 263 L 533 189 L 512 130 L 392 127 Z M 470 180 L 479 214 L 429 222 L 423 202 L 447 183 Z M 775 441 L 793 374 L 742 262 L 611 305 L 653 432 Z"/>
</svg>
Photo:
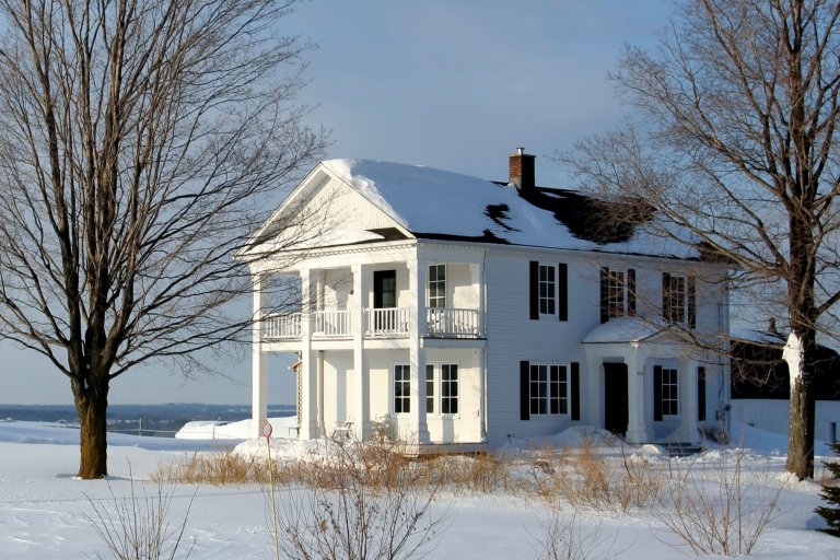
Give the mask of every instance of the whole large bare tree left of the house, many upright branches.
<svg viewBox="0 0 840 560">
<path fill-rule="evenodd" d="M 250 320 L 233 255 L 325 148 L 311 45 L 276 28 L 294 1 L 0 0 L 0 337 L 70 378 L 82 478 L 115 377 Z"/>
</svg>

